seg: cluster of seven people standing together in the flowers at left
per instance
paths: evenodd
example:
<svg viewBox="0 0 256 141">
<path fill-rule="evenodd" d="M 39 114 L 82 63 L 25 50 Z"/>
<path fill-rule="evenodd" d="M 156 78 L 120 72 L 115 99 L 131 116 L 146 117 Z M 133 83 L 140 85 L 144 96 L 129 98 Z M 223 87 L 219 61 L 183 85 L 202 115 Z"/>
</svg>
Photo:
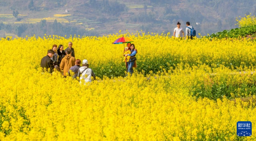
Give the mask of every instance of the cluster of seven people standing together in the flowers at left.
<svg viewBox="0 0 256 141">
<path fill-rule="evenodd" d="M 92 82 L 92 78 L 96 79 L 95 74 L 92 69 L 89 68 L 89 63 L 87 60 L 82 61 L 82 67 L 80 66 L 81 60 L 75 59 L 75 51 L 72 48 L 72 42 L 68 43 L 68 48 L 63 50 L 63 45 L 53 45 L 52 49 L 47 51 L 47 55 L 41 60 L 41 67 L 45 68 L 48 71 L 50 68 L 50 72 L 54 72 L 54 68 L 56 71 L 62 72 L 62 75 L 66 77 L 67 75 L 71 75 L 71 71 L 74 73 L 72 75 L 73 78 L 79 77 L 79 80 L 84 80 L 84 82 Z M 81 76 L 80 76 L 81 74 Z"/>
</svg>

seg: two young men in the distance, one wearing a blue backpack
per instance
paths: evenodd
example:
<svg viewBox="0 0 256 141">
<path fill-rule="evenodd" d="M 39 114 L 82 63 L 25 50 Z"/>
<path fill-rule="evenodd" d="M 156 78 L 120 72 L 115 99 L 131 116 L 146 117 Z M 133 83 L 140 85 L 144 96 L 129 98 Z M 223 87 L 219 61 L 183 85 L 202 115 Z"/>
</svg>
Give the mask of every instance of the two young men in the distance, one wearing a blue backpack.
<svg viewBox="0 0 256 141">
<path fill-rule="evenodd" d="M 193 39 L 193 36 L 191 35 L 191 29 L 193 29 L 193 27 L 190 25 L 190 22 L 186 22 L 186 38 L 190 38 L 191 40 Z M 173 37 L 176 38 L 184 38 L 184 31 L 183 28 L 181 27 L 181 23 L 177 22 L 177 27 L 174 28 L 173 31 Z"/>
</svg>

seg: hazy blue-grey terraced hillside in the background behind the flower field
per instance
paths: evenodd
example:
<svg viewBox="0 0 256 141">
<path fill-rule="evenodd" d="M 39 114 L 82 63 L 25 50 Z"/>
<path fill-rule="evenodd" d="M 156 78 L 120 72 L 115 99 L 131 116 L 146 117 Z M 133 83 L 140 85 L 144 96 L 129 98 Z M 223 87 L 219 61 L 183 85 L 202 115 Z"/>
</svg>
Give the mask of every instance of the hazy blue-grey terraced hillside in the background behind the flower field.
<svg viewBox="0 0 256 141">
<path fill-rule="evenodd" d="M 0 36 L 167 33 L 173 32 L 177 21 L 183 28 L 190 21 L 197 33 L 207 35 L 236 28 L 235 18 L 255 15 L 255 6 L 255 1 L 247 0 L 1 0 Z"/>
</svg>

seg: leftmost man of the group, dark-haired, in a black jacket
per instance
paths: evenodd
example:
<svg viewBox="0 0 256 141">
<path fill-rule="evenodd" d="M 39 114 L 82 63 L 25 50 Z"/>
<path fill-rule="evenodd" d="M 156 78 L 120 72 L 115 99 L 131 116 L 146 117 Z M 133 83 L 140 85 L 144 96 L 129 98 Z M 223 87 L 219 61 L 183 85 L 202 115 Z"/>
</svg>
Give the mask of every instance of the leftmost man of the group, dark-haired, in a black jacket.
<svg viewBox="0 0 256 141">
<path fill-rule="evenodd" d="M 47 71 L 48 72 L 50 71 L 50 73 L 53 72 L 54 65 L 53 65 L 53 60 L 51 60 L 51 57 L 53 57 L 53 55 L 54 55 L 54 51 L 48 50 L 47 55 L 42 58 L 41 67 L 43 68 L 43 71 L 44 71 L 44 68 L 46 68 L 46 72 Z M 50 68 L 50 70 L 48 70 L 48 68 Z"/>
</svg>

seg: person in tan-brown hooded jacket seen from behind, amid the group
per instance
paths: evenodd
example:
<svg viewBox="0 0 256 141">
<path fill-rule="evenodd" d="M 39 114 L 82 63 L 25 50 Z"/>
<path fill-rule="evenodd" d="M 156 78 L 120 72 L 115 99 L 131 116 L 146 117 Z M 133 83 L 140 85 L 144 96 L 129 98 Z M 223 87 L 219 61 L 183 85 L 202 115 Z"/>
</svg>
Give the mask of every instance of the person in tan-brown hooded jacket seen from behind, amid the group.
<svg viewBox="0 0 256 141">
<path fill-rule="evenodd" d="M 67 76 L 66 73 L 68 73 L 69 69 L 75 65 L 75 57 L 71 56 L 71 49 L 66 49 L 65 57 L 60 62 L 60 71 L 63 71 L 64 77 Z"/>
</svg>

